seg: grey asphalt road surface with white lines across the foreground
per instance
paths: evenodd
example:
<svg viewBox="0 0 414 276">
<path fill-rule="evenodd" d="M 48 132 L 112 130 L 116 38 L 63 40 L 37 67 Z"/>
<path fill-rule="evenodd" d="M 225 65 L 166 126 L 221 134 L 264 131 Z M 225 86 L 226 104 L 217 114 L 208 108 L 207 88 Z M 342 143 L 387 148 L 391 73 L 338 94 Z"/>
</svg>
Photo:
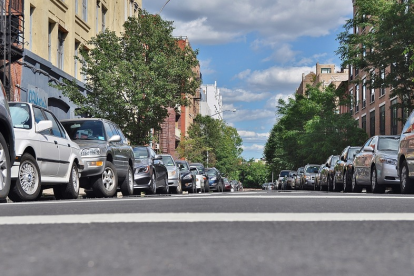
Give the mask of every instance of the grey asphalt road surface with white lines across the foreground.
<svg viewBox="0 0 414 276">
<path fill-rule="evenodd" d="M 0 275 L 412 275 L 414 195 L 257 191 L 0 204 Z"/>
</svg>

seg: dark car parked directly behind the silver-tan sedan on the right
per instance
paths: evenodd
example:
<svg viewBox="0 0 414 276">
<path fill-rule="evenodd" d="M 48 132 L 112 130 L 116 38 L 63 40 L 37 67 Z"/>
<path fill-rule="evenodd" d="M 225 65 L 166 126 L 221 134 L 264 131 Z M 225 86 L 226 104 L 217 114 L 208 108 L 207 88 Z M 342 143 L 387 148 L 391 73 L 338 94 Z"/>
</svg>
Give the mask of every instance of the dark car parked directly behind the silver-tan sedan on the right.
<svg viewBox="0 0 414 276">
<path fill-rule="evenodd" d="M 350 192 L 352 190 L 353 162 L 360 149 L 360 146 L 348 146 L 342 151 L 339 161 L 335 164 L 332 191 Z"/>
</svg>

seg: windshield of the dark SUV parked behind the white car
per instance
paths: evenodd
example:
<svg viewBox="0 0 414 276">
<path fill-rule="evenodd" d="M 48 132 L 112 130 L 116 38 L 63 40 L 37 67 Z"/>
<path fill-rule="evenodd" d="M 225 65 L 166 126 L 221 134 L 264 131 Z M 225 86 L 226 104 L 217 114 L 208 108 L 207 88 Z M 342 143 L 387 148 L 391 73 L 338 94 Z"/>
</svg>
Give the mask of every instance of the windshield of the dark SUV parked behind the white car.
<svg viewBox="0 0 414 276">
<path fill-rule="evenodd" d="M 105 141 L 105 132 L 101 121 L 68 121 L 62 122 L 62 125 L 72 140 Z"/>
</svg>

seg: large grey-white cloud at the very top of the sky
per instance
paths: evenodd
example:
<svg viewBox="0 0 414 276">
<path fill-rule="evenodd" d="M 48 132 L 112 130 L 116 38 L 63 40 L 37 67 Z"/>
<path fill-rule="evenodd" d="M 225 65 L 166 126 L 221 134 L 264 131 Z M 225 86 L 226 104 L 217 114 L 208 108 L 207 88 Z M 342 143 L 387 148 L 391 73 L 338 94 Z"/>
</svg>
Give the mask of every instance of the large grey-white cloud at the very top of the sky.
<svg viewBox="0 0 414 276">
<path fill-rule="evenodd" d="M 151 13 L 165 4 L 165 0 L 142 2 Z M 161 15 L 174 21 L 175 35 L 188 36 L 192 43 L 223 44 L 258 32 L 259 44 L 271 45 L 327 35 L 350 14 L 352 3 L 344 0 L 179 0 L 169 2 Z"/>
</svg>

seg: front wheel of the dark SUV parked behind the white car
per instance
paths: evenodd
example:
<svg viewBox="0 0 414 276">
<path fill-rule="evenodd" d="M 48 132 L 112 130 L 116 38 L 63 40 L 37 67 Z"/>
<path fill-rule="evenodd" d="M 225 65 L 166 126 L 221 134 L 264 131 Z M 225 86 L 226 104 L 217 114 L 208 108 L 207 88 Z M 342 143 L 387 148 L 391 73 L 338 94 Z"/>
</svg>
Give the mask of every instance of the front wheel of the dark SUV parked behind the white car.
<svg viewBox="0 0 414 276">
<path fill-rule="evenodd" d="M 118 188 L 118 173 L 115 166 L 106 161 L 102 175 L 92 178 L 92 189 L 96 197 L 113 197 Z"/>
</svg>

